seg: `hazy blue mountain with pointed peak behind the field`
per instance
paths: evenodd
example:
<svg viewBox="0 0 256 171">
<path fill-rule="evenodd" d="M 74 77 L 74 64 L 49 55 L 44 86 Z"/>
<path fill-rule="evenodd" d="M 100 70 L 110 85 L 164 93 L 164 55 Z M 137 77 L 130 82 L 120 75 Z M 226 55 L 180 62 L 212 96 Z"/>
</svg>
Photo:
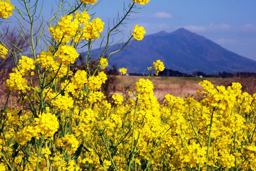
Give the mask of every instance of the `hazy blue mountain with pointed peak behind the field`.
<svg viewBox="0 0 256 171">
<path fill-rule="evenodd" d="M 117 45 L 118 46 L 118 45 Z M 230 52 L 213 41 L 180 28 L 174 32 L 147 35 L 141 41 L 132 41 L 129 49 L 110 56 L 109 64 L 127 68 L 128 72 L 147 73 L 147 67 L 160 59 L 165 68 L 192 73 L 256 72 L 256 61 Z M 116 51 L 110 47 L 107 54 Z M 94 52 L 98 52 L 95 50 Z M 98 53 L 94 53 L 95 57 Z"/>
</svg>

